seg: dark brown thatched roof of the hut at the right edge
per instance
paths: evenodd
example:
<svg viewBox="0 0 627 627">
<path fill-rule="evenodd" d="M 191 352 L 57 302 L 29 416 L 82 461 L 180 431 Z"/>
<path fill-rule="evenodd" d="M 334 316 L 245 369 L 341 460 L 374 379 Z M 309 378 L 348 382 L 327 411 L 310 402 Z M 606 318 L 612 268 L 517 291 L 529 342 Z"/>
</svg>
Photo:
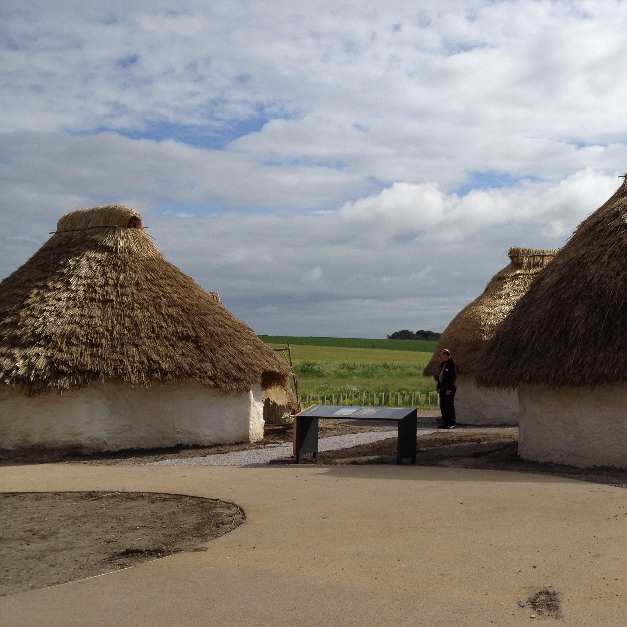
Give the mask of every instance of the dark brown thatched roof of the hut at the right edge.
<svg viewBox="0 0 627 627">
<path fill-rule="evenodd" d="M 486 387 L 627 381 L 627 181 L 586 218 L 487 346 Z"/>
</svg>

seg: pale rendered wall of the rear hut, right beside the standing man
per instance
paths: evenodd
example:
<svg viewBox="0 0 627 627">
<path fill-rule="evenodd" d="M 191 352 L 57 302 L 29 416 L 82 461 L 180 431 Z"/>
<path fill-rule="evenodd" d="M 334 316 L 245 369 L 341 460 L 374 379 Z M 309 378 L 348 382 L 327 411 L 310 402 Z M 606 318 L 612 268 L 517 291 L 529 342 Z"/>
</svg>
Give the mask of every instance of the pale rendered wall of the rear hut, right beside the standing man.
<svg viewBox="0 0 627 627">
<path fill-rule="evenodd" d="M 461 424 L 518 424 L 518 394 L 485 390 L 475 385 L 474 374 L 456 380 L 455 416 Z"/>
</svg>

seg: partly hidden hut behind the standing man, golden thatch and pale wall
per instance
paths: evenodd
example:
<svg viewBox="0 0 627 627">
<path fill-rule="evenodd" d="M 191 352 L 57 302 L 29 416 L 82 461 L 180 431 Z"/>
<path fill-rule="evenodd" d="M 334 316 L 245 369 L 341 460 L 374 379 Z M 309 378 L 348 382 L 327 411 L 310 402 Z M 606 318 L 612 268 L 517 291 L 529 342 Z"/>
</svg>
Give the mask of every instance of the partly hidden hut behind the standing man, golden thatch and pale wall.
<svg viewBox="0 0 627 627">
<path fill-rule="evenodd" d="M 510 248 L 509 265 L 492 277 L 483 293 L 466 305 L 438 340 L 424 376 L 438 376 L 441 351 L 451 350 L 459 365 L 456 406 L 458 421 L 471 424 L 515 424 L 518 401 L 511 394 L 478 394 L 473 382 L 483 350 L 514 305 L 529 289 L 556 250 Z"/>
</svg>

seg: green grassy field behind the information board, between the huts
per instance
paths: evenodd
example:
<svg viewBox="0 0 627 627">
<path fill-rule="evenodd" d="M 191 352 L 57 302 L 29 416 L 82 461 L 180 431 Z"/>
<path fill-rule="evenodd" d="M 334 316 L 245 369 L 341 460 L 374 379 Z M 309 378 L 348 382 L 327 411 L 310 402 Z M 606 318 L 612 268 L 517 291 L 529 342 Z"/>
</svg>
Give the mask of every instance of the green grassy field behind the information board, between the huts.
<svg viewBox="0 0 627 627">
<path fill-rule="evenodd" d="M 277 336 L 261 336 L 261 339 Z M 287 340 L 280 337 L 280 340 Z M 292 361 L 298 379 L 299 393 L 303 404 L 307 401 L 317 402 L 318 395 L 322 399 L 327 397 L 330 403 L 332 398 L 335 404 L 339 404 L 338 398 L 342 395 L 342 404 L 372 404 L 373 394 L 387 394 L 386 404 L 389 403 L 389 395 L 392 394 L 392 404 L 395 403 L 396 393 L 409 394 L 421 392 L 423 396 L 421 404 L 424 404 L 426 393 L 435 390 L 435 381 L 432 377 L 423 377 L 422 372 L 429 359 L 433 355 L 433 349 L 425 351 L 412 351 L 407 349 L 389 350 L 359 348 L 352 346 L 320 345 L 320 344 L 292 344 Z M 322 339 L 322 338 L 312 338 Z M 341 342 L 342 338 L 332 338 L 335 342 Z M 351 341 L 365 341 L 352 340 Z M 367 340 L 372 342 L 373 340 Z M 400 344 L 403 340 L 379 340 L 391 344 Z M 273 348 L 285 347 L 285 342 L 268 342 Z M 418 344 L 421 347 L 432 345 L 436 342 L 420 342 L 407 340 L 407 344 Z M 281 354 L 281 353 L 279 353 Z M 363 401 L 363 395 L 369 395 L 370 402 Z M 377 404 L 380 402 L 377 401 Z"/>
</svg>

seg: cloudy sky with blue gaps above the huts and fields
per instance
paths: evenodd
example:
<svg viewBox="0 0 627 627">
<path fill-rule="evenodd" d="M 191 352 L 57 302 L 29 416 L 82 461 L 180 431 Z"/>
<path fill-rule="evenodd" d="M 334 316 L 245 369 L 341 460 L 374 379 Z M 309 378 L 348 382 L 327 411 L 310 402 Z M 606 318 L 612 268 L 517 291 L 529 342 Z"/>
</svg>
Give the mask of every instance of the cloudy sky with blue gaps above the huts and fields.
<svg viewBox="0 0 627 627">
<path fill-rule="evenodd" d="M 0 277 L 126 204 L 259 334 L 443 330 L 627 170 L 627 3 L 4 0 Z"/>
</svg>

